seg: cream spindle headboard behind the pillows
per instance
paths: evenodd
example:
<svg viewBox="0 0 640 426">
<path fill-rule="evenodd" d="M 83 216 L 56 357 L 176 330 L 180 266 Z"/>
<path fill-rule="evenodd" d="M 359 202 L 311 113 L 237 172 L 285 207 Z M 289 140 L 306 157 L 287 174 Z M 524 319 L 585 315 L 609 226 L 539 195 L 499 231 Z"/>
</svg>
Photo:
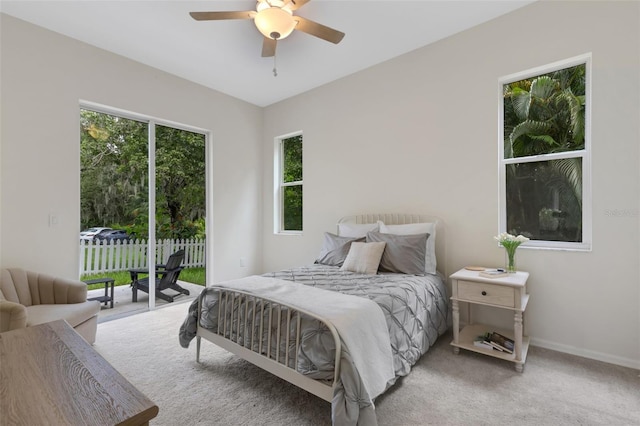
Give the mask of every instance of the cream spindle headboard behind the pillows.
<svg viewBox="0 0 640 426">
<path fill-rule="evenodd" d="M 423 213 L 366 213 L 352 216 L 344 216 L 338 220 L 340 223 L 376 223 L 382 221 L 387 225 L 404 225 L 408 223 L 435 223 L 436 224 L 436 259 L 438 272 L 447 278 L 446 267 L 446 232 L 444 221 L 437 216 Z"/>
</svg>

